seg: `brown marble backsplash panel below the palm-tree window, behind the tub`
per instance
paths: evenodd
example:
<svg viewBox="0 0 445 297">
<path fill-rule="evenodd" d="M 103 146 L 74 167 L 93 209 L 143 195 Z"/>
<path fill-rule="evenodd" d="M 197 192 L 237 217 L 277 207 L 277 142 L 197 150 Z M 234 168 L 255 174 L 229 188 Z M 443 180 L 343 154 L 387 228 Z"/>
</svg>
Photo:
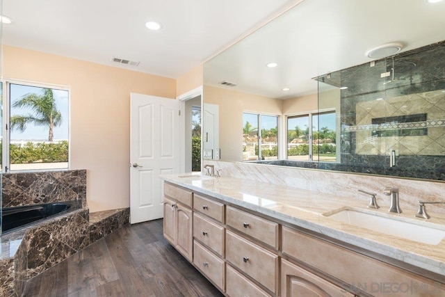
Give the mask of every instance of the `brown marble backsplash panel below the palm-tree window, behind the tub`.
<svg viewBox="0 0 445 297">
<path fill-rule="evenodd" d="M 81 200 L 86 207 L 86 170 L 2 175 L 2 207 Z"/>
</svg>

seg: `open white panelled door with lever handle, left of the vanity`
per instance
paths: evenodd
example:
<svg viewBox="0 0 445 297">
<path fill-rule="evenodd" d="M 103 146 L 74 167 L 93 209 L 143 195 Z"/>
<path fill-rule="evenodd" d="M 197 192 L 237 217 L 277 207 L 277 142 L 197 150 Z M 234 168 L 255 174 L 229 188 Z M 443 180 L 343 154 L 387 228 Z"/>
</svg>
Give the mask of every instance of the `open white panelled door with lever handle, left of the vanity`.
<svg viewBox="0 0 445 297">
<path fill-rule="evenodd" d="M 179 172 L 179 104 L 131 93 L 130 223 L 163 217 L 159 175 Z"/>
</svg>

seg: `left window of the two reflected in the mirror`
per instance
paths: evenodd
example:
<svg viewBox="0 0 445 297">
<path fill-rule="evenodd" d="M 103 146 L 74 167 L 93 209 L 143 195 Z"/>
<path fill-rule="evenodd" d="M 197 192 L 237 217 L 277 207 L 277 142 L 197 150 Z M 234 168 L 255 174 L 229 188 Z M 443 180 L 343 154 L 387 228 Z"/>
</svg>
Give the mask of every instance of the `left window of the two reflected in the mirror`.
<svg viewBox="0 0 445 297">
<path fill-rule="evenodd" d="M 276 159 L 278 159 L 277 115 L 243 113 L 243 161 Z"/>
</svg>

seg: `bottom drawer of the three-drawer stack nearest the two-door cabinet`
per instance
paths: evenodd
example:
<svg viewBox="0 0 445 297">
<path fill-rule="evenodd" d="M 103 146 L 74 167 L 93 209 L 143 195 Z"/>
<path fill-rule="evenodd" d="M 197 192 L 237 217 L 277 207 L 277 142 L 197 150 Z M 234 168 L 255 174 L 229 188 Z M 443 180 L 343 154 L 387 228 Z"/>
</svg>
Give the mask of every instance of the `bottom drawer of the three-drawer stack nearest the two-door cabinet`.
<svg viewBox="0 0 445 297">
<path fill-rule="evenodd" d="M 216 284 L 220 289 L 224 289 L 224 261 L 213 255 L 197 241 L 193 241 L 193 263 L 213 284 Z"/>
</svg>

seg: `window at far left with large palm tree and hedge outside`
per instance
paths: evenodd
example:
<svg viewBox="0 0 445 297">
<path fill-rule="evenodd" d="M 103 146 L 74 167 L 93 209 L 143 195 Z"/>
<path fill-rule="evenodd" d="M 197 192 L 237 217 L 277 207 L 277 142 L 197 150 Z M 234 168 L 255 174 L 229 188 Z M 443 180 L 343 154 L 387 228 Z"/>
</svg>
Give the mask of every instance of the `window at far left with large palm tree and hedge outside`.
<svg viewBox="0 0 445 297">
<path fill-rule="evenodd" d="M 68 168 L 70 96 L 67 88 L 9 81 L 5 86 L 3 172 Z"/>
</svg>

